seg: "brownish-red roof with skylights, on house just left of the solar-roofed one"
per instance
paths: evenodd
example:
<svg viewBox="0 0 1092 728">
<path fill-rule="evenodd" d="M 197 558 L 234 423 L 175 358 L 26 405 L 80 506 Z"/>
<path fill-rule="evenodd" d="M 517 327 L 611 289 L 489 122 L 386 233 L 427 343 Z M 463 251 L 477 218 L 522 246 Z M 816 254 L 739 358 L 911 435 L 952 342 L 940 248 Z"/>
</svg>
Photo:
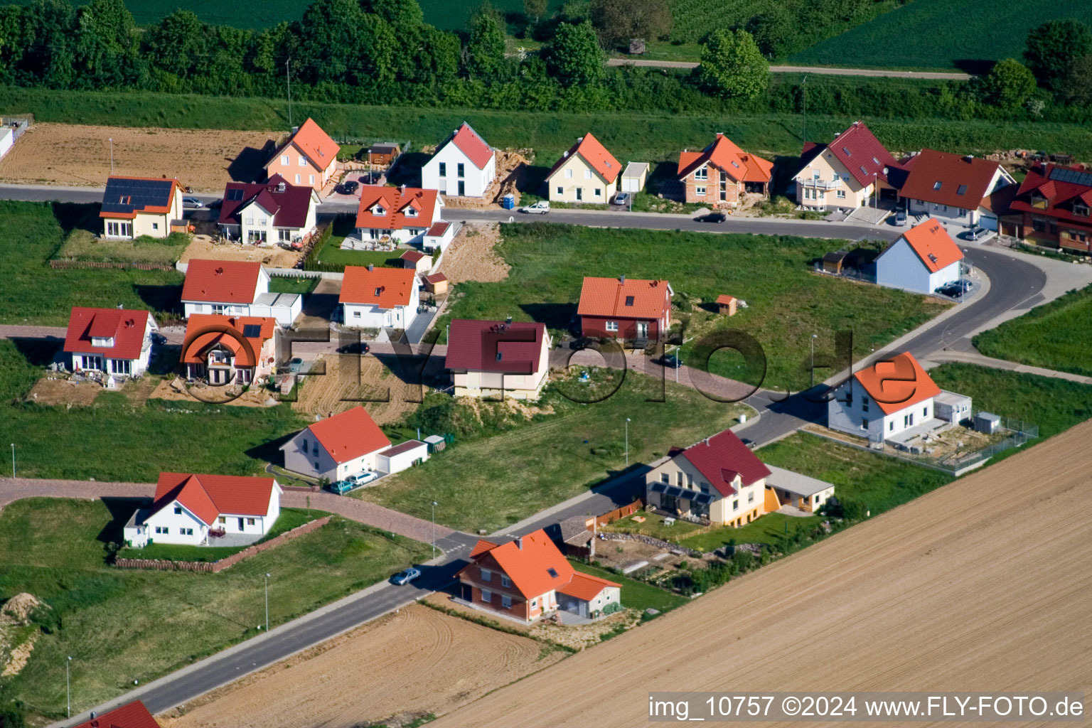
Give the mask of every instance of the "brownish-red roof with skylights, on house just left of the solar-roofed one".
<svg viewBox="0 0 1092 728">
<path fill-rule="evenodd" d="M 977 210 L 1000 165 L 981 157 L 922 150 L 914 157 L 900 194 L 949 207 Z"/>
</svg>

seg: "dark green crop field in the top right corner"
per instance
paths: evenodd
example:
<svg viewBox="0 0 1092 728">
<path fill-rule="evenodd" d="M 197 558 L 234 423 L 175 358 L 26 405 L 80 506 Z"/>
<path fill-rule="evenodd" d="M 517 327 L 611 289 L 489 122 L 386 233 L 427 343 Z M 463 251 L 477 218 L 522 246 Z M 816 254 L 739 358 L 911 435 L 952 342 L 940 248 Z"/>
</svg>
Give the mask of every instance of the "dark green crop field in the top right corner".
<svg viewBox="0 0 1092 728">
<path fill-rule="evenodd" d="M 859 68 L 982 70 L 1020 58 L 1028 31 L 1048 20 L 1092 23 L 1088 0 L 914 0 L 790 58 Z"/>
</svg>

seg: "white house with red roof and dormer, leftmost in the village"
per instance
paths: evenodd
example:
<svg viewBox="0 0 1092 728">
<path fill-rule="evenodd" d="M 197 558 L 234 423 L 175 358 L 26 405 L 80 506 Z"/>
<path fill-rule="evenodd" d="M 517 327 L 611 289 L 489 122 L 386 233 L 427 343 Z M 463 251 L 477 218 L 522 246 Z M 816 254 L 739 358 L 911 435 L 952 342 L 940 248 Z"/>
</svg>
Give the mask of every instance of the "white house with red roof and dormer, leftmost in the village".
<svg viewBox="0 0 1092 728">
<path fill-rule="evenodd" d="M 159 327 L 147 311 L 73 308 L 64 333 L 72 371 L 140 377 L 152 356 L 152 332 Z"/>
</svg>

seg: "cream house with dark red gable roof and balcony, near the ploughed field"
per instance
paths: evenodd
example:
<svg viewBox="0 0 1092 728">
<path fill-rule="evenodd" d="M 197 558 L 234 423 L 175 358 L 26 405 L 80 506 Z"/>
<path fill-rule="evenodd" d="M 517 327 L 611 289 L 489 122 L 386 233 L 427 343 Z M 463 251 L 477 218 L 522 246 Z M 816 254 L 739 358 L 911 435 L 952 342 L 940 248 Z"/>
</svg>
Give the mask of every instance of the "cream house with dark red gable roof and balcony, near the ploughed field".
<svg viewBox="0 0 1092 728">
<path fill-rule="evenodd" d="M 672 516 L 743 526 L 767 513 L 768 468 L 732 430 L 675 450 L 645 475 L 645 503 Z"/>
</svg>

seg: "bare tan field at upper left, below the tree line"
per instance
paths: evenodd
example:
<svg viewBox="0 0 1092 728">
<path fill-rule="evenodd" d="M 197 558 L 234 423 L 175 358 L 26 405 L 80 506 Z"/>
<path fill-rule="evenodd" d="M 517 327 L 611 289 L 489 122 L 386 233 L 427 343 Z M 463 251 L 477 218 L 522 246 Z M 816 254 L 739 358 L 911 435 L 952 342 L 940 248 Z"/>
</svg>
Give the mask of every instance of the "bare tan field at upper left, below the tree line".
<svg viewBox="0 0 1092 728">
<path fill-rule="evenodd" d="M 0 181 L 95 186 L 114 171 L 134 177 L 177 177 L 204 192 L 223 192 L 233 179 L 262 174 L 280 134 L 265 131 L 127 129 L 36 123 L 0 160 Z"/>
</svg>

